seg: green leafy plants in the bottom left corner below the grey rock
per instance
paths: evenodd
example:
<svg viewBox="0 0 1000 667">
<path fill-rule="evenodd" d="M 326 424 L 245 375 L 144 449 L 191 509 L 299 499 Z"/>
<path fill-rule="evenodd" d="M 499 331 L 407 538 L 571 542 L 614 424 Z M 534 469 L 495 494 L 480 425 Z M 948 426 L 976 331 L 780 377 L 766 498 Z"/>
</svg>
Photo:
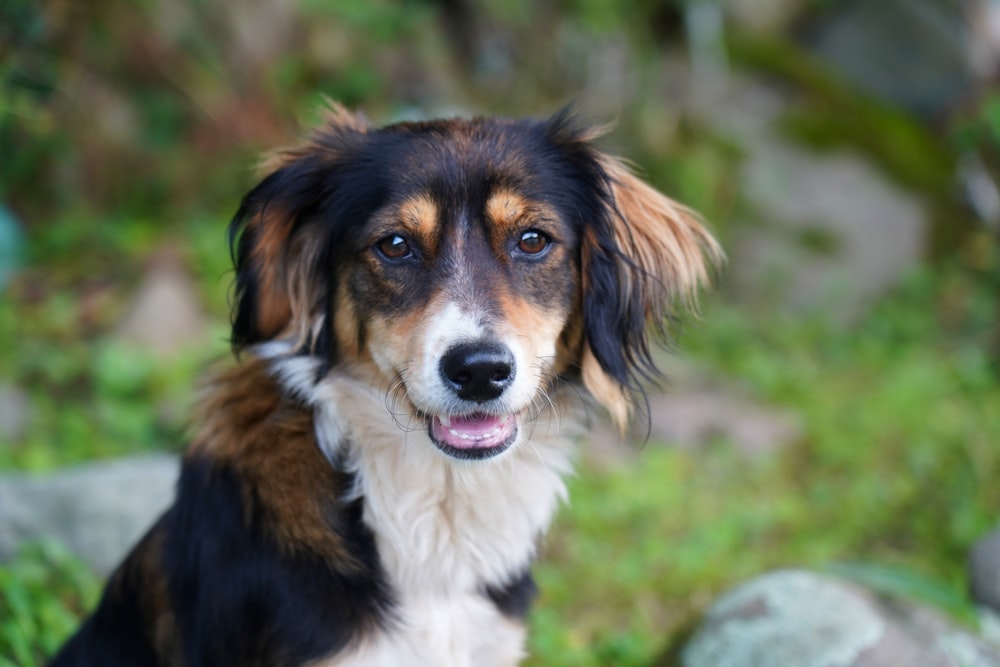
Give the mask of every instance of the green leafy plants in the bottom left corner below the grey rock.
<svg viewBox="0 0 1000 667">
<path fill-rule="evenodd" d="M 57 544 L 30 546 L 0 565 L 0 667 L 44 665 L 99 592 L 97 579 Z"/>
</svg>

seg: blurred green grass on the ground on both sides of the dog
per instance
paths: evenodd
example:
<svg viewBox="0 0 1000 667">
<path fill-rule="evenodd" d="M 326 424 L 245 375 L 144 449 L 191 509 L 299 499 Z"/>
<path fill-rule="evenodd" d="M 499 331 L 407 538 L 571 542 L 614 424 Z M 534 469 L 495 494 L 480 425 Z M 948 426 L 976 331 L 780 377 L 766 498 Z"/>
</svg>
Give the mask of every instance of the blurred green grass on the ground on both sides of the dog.
<svg viewBox="0 0 1000 667">
<path fill-rule="evenodd" d="M 107 332 L 140 270 L 131 248 L 157 234 L 140 224 L 94 248 L 74 227 L 36 235 L 0 301 L 0 338 L 18 341 L 0 350 L 0 382 L 33 406 L 0 469 L 176 448 L 198 369 L 224 354 L 164 363 L 115 345 Z M 192 225 L 184 245 L 220 321 L 221 229 Z M 91 250 L 103 259 L 81 266 Z M 81 319 L 94 285 L 105 301 Z M 915 276 L 849 330 L 711 305 L 684 355 L 797 413 L 801 440 L 760 458 L 722 441 L 650 442 L 610 466 L 584 457 L 543 545 L 527 664 L 650 665 L 723 589 L 777 567 L 850 563 L 839 572 L 968 618 L 965 554 L 1000 507 L 1000 383 L 982 344 L 996 309 L 985 283 L 955 270 Z M 0 565 L 0 667 L 42 664 L 98 588 L 57 545 Z"/>
</svg>

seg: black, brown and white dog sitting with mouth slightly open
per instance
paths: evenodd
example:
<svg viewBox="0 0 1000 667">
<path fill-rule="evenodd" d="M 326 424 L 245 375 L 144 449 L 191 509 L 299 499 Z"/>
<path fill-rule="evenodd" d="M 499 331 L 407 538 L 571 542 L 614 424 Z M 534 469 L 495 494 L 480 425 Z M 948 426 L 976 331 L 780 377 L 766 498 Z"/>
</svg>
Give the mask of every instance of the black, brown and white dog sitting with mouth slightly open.
<svg viewBox="0 0 1000 667">
<path fill-rule="evenodd" d="M 267 160 L 230 226 L 236 364 L 51 664 L 516 665 L 588 406 L 626 423 L 721 257 L 599 134 L 331 105 Z"/>
</svg>

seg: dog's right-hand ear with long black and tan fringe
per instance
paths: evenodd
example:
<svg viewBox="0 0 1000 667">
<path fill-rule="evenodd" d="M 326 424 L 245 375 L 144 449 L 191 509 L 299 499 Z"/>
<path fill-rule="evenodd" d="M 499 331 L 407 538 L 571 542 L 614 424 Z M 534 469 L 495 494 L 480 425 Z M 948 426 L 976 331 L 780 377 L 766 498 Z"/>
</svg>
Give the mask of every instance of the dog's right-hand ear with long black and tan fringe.
<svg viewBox="0 0 1000 667">
<path fill-rule="evenodd" d="M 689 209 L 616 159 L 598 159 L 607 216 L 582 236 L 584 385 L 625 428 L 641 381 L 658 372 L 650 333 L 665 335 L 675 307 L 693 309 L 722 261 L 715 239 Z"/>
</svg>

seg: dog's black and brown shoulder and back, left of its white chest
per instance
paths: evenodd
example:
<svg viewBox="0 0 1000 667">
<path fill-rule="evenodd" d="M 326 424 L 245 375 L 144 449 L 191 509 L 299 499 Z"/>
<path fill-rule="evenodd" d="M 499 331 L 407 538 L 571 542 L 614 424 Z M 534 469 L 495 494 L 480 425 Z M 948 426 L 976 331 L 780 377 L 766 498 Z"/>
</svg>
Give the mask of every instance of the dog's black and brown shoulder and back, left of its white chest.
<svg viewBox="0 0 1000 667">
<path fill-rule="evenodd" d="M 57 667 L 96 664 L 87 647 L 123 636 L 122 664 L 305 664 L 386 621 L 374 537 L 311 411 L 252 360 L 217 376 L 198 413 L 174 504 Z"/>
</svg>

